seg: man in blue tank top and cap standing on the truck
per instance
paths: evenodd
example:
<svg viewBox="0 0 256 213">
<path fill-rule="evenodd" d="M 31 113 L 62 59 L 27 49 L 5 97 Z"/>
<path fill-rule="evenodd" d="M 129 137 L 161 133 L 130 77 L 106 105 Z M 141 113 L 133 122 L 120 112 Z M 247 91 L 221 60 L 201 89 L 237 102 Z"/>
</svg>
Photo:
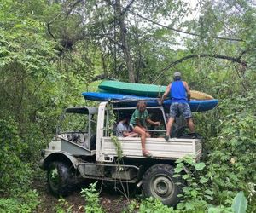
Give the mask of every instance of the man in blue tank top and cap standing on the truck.
<svg viewBox="0 0 256 213">
<path fill-rule="evenodd" d="M 180 113 L 183 114 L 184 118 L 186 118 L 191 133 L 194 133 L 195 131 L 194 123 L 192 120 L 192 113 L 188 104 L 191 95 L 189 85 L 185 81 L 182 81 L 180 72 L 174 72 L 173 82 L 167 86 L 166 92 L 160 100 L 160 104 L 163 103 L 168 94 L 172 100 L 172 104 L 170 107 L 170 118 L 167 123 L 165 136 L 166 141 L 169 140 L 172 124 L 177 115 Z"/>
</svg>

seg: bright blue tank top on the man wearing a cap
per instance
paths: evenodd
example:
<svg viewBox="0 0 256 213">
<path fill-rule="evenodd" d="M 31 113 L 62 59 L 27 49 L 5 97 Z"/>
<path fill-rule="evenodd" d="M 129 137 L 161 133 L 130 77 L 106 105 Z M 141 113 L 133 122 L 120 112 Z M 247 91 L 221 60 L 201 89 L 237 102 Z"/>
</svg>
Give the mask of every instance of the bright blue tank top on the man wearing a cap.
<svg viewBox="0 0 256 213">
<path fill-rule="evenodd" d="M 187 91 L 183 81 L 173 81 L 171 85 L 170 98 L 172 102 L 187 103 Z"/>
</svg>

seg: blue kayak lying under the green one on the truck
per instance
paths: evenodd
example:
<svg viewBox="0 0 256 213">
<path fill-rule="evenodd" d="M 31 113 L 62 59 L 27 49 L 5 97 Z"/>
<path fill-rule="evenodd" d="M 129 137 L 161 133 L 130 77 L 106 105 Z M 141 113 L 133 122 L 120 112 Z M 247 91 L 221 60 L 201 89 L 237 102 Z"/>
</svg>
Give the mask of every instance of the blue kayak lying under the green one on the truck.
<svg viewBox="0 0 256 213">
<path fill-rule="evenodd" d="M 147 102 L 148 107 L 159 106 L 158 100 L 156 98 L 143 97 L 137 95 L 122 95 L 113 93 L 97 93 L 97 92 L 84 92 L 82 93 L 84 99 L 91 101 L 117 101 L 115 105 L 122 107 L 135 107 L 137 101 L 144 100 Z M 119 102 L 118 102 L 119 101 Z M 169 110 L 172 101 L 166 99 L 163 103 L 165 110 Z M 218 105 L 217 99 L 212 100 L 191 100 L 189 101 L 189 106 L 192 112 L 204 112 L 211 110 Z"/>
</svg>

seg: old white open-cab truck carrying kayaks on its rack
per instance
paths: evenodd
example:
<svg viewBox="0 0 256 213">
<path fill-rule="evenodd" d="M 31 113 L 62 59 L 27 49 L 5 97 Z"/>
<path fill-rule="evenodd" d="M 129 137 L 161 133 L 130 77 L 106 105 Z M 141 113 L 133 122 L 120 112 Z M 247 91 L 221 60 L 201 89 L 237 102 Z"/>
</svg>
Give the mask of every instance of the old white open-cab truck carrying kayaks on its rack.
<svg viewBox="0 0 256 213">
<path fill-rule="evenodd" d="M 135 107 L 113 107 L 101 102 L 98 107 L 69 107 L 60 119 L 56 135 L 42 151 L 41 168 L 47 171 L 49 190 L 55 195 L 66 195 L 75 180 L 125 182 L 142 187 L 145 196 L 161 199 L 163 204 L 175 205 L 182 193 L 181 181 L 174 177 L 175 161 L 192 155 L 201 157 L 201 139 L 195 135 L 176 135 L 165 141 L 166 114 L 163 107 L 147 107 L 160 127 L 148 131 L 146 148 L 153 158 L 142 154 L 140 137 L 118 137 L 119 150 L 113 143 L 119 114 L 130 115 Z M 177 130 L 178 131 L 177 126 Z M 117 158 L 121 157 L 121 161 Z"/>
</svg>

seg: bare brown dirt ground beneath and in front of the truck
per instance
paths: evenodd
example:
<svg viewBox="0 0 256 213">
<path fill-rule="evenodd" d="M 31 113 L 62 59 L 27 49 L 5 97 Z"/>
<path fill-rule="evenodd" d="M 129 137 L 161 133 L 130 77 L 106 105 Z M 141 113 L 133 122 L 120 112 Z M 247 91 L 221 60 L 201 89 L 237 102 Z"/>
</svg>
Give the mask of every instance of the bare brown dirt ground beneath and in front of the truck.
<svg viewBox="0 0 256 213">
<path fill-rule="evenodd" d="M 37 189 L 41 204 L 39 204 L 37 213 L 55 213 L 56 205 L 61 205 L 59 199 L 55 198 L 51 193 L 49 193 L 49 189 L 47 187 L 46 178 L 40 178 L 40 180 L 34 180 L 34 187 Z M 139 192 L 132 192 L 127 196 L 127 193 L 116 192 L 113 189 L 113 185 L 106 186 L 98 184 L 98 191 L 101 190 L 100 193 L 100 203 L 105 212 L 122 212 L 122 210 L 127 210 L 128 205 L 131 202 L 131 199 L 135 199 Z M 61 206 L 65 206 L 63 209 L 67 209 L 70 207 L 73 213 L 76 212 L 84 212 L 84 204 L 85 199 L 79 194 L 81 188 L 86 187 L 85 185 L 80 185 L 77 188 L 74 188 L 73 193 L 65 197 L 64 199 L 67 201 L 66 204 Z M 120 188 L 120 187 L 119 187 Z M 120 190 L 122 191 L 122 190 Z M 128 198 L 125 198 L 127 196 Z"/>
</svg>

